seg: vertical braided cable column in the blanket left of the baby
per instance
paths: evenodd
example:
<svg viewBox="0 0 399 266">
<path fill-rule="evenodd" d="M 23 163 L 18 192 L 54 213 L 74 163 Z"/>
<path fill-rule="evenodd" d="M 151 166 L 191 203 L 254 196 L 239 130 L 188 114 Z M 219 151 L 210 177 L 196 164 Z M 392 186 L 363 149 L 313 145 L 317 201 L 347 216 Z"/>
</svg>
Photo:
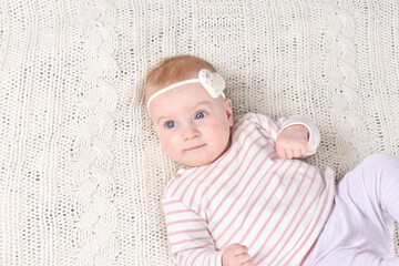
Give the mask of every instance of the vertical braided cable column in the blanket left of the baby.
<svg viewBox="0 0 399 266">
<path fill-rule="evenodd" d="M 108 1 L 81 3 L 82 79 L 72 165 L 78 216 L 76 265 L 112 265 L 119 254 L 113 203 L 113 115 L 117 104 L 116 10 Z"/>
</svg>

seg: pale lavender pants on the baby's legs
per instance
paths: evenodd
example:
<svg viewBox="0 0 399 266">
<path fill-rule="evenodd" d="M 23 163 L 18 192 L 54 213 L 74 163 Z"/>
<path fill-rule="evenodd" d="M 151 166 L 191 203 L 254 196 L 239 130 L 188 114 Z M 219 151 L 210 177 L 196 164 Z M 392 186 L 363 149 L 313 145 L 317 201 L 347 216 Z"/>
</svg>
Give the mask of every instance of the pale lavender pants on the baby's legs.
<svg viewBox="0 0 399 266">
<path fill-rule="evenodd" d="M 303 265 L 399 265 L 393 227 L 399 221 L 399 158 L 367 157 L 336 187 L 335 204 Z"/>
</svg>

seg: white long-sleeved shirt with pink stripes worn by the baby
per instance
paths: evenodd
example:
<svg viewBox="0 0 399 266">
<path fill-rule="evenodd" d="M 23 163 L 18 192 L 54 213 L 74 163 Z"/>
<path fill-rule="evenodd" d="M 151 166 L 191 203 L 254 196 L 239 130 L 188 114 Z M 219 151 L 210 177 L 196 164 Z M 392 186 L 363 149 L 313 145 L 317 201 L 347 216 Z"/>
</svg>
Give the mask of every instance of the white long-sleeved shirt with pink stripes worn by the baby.
<svg viewBox="0 0 399 266">
<path fill-rule="evenodd" d="M 181 168 L 164 193 L 171 254 L 177 265 L 222 265 L 223 248 L 248 247 L 254 265 L 297 265 L 319 235 L 334 200 L 334 172 L 280 160 L 278 133 L 309 130 L 309 153 L 320 141 L 305 116 L 236 119 L 231 147 L 211 164 Z"/>
</svg>

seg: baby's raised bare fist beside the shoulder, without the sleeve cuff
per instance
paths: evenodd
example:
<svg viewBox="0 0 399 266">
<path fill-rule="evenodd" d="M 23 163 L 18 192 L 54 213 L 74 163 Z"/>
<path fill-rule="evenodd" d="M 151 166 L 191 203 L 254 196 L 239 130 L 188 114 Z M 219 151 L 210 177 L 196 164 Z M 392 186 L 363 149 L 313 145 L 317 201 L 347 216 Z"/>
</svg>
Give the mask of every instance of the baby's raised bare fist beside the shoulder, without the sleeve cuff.
<svg viewBox="0 0 399 266">
<path fill-rule="evenodd" d="M 276 151 L 280 158 L 293 158 L 308 152 L 309 131 L 305 125 L 290 125 L 276 140 Z"/>
</svg>

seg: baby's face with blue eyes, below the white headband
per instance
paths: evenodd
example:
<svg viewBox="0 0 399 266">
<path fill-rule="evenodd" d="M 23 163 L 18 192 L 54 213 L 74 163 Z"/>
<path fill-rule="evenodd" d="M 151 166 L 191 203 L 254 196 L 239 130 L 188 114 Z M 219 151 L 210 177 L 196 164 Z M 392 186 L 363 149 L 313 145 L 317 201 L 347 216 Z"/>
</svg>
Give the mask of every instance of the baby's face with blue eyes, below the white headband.
<svg viewBox="0 0 399 266">
<path fill-rule="evenodd" d="M 228 146 L 232 102 L 213 99 L 201 83 L 190 83 L 156 96 L 150 114 L 165 152 L 186 167 L 212 163 Z"/>
</svg>

